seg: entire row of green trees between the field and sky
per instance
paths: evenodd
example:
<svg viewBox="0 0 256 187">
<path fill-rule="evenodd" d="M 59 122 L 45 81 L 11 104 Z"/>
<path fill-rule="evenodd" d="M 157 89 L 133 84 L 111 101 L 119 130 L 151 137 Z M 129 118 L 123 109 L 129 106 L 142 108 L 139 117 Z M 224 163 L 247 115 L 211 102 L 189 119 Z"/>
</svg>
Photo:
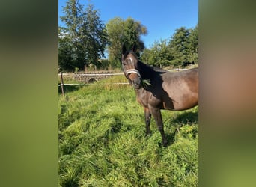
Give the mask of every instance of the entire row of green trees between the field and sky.
<svg viewBox="0 0 256 187">
<path fill-rule="evenodd" d="M 74 71 L 75 67 L 84 70 L 91 64 L 103 69 L 120 68 L 123 44 L 127 49 L 135 45 L 138 58 L 153 66 L 198 64 L 198 25 L 177 28 L 170 40 L 156 41 L 150 49 L 144 49 L 141 36 L 147 35 L 147 28 L 131 17 L 115 17 L 104 25 L 93 4 L 84 10 L 78 0 L 67 1 L 63 12 L 65 27 L 58 31 L 58 63 L 63 71 Z M 105 50 L 108 61 L 102 63 Z"/>
</svg>

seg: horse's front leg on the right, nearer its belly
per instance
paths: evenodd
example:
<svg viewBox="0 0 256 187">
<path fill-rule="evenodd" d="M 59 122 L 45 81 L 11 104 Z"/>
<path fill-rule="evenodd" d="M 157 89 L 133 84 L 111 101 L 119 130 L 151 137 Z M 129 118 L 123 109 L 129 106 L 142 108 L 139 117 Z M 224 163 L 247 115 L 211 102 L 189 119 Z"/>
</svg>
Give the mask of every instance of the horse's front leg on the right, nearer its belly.
<svg viewBox="0 0 256 187">
<path fill-rule="evenodd" d="M 164 127 L 162 124 L 162 114 L 160 111 L 160 108 L 150 108 L 150 112 L 153 115 L 153 118 L 156 120 L 156 125 L 159 129 L 159 132 L 161 133 L 162 136 L 162 144 L 163 146 L 167 146 L 167 139 L 165 138 L 165 131 L 164 131 Z"/>
</svg>

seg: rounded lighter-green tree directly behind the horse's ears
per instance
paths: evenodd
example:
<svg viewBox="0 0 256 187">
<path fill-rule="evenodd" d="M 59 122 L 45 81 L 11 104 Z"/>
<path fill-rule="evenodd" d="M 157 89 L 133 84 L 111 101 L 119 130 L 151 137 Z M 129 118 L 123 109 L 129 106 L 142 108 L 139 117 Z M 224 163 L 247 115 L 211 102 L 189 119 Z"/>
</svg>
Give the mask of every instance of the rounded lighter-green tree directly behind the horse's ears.
<svg viewBox="0 0 256 187">
<path fill-rule="evenodd" d="M 125 44 L 127 49 L 132 49 L 135 44 L 138 52 L 144 49 L 144 43 L 141 40 L 141 35 L 147 34 L 147 28 L 141 25 L 141 22 L 135 21 L 132 18 L 123 20 L 119 17 L 109 20 L 106 24 L 106 30 L 109 37 L 108 54 L 109 61 L 112 66 L 120 67 L 121 48 Z M 137 54 L 139 55 L 139 53 Z"/>
</svg>

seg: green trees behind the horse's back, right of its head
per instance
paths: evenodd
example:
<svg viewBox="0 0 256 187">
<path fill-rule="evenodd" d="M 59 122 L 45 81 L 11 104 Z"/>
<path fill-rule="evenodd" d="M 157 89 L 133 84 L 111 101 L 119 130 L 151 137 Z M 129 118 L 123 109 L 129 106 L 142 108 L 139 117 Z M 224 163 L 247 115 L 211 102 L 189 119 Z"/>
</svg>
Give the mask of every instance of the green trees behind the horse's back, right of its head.
<svg viewBox="0 0 256 187">
<path fill-rule="evenodd" d="M 144 49 L 141 61 L 157 67 L 182 67 L 198 64 L 198 25 L 195 28 L 178 28 L 170 40 L 155 42 Z"/>
</svg>

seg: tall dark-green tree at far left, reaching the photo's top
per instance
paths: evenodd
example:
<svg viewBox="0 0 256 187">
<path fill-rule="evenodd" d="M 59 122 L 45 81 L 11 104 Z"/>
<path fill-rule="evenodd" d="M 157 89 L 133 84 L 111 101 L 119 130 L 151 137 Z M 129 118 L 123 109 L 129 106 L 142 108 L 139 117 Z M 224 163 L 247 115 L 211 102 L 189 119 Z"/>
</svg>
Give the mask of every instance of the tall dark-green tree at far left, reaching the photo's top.
<svg viewBox="0 0 256 187">
<path fill-rule="evenodd" d="M 63 38 L 59 39 L 60 66 L 67 67 L 64 65 L 66 53 L 71 53 L 66 63 L 72 65 L 68 67 L 84 70 L 85 65 L 97 65 L 100 57 L 104 56 L 107 43 L 105 25 L 100 19 L 98 10 L 94 10 L 92 4 L 88 4 L 84 10 L 79 0 L 68 0 L 63 12 L 64 16 L 61 16 L 61 20 L 65 27 L 61 29 Z"/>
</svg>

